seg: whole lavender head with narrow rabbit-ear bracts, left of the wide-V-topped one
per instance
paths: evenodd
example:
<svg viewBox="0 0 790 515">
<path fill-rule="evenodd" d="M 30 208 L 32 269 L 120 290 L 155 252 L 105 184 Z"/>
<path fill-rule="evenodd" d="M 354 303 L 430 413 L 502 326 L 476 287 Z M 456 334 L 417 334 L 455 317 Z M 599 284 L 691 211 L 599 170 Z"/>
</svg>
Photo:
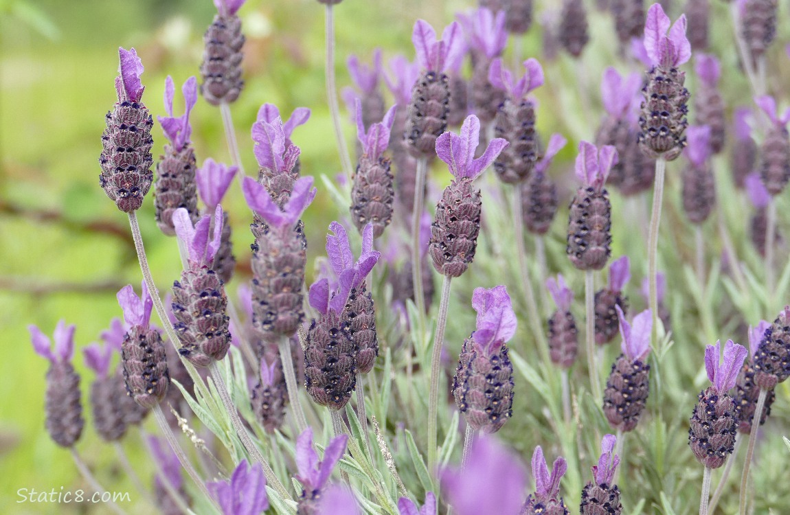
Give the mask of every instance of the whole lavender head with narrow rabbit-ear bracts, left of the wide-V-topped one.
<svg viewBox="0 0 790 515">
<path fill-rule="evenodd" d="M 203 216 L 193 227 L 186 209 L 176 209 L 173 214 L 175 232 L 189 253 L 181 280 L 173 282 L 171 306 L 178 320 L 174 328 L 181 342 L 179 354 L 195 367 L 208 367 L 213 359 L 223 359 L 231 346 L 228 296 L 211 269 L 220 248 L 222 218 L 222 206 L 217 205 L 213 239 L 209 239 L 211 216 Z"/>
</svg>

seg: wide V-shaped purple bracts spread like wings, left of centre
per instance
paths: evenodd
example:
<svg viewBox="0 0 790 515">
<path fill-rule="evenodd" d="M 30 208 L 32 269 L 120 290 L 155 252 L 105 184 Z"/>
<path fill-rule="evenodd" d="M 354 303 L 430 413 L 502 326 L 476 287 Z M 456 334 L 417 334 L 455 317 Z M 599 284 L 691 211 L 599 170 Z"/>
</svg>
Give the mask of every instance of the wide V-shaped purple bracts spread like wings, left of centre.
<svg viewBox="0 0 790 515">
<path fill-rule="evenodd" d="M 313 178 L 309 175 L 294 182 L 291 198 L 283 206 L 283 209 L 274 203 L 266 188 L 252 177 L 244 178 L 242 191 L 250 209 L 257 212 L 258 216 L 261 216 L 267 224 L 274 227 L 295 224 L 296 220 L 299 220 L 299 216 L 302 216 L 304 210 L 313 201 L 316 193 L 316 189 L 313 187 Z"/>
</svg>

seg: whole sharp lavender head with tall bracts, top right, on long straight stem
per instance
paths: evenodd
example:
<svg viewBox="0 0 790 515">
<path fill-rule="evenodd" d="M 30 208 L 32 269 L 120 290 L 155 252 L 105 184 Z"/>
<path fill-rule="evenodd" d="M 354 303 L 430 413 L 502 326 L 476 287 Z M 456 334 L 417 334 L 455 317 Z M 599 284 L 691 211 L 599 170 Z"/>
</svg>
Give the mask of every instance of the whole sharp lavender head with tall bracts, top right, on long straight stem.
<svg viewBox="0 0 790 515">
<path fill-rule="evenodd" d="M 659 4 L 653 4 L 645 21 L 645 53 L 652 67 L 645 77 L 639 116 L 639 145 L 650 157 L 674 160 L 686 145 L 687 102 L 683 87 L 686 73 L 678 66 L 691 57 L 686 38 L 686 16 L 681 15 L 670 28 L 669 17 Z M 667 36 L 668 33 L 668 36 Z"/>
</svg>

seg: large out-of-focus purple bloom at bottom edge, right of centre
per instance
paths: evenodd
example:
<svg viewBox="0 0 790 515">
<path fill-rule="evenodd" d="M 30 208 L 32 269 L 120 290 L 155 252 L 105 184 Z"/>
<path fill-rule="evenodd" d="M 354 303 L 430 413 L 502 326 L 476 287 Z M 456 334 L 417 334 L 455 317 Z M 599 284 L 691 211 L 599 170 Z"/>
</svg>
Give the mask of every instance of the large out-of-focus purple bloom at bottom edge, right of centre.
<svg viewBox="0 0 790 515">
<path fill-rule="evenodd" d="M 472 444 L 463 470 L 441 472 L 442 491 L 458 515 L 518 515 L 526 474 L 514 453 L 492 437 Z"/>
</svg>

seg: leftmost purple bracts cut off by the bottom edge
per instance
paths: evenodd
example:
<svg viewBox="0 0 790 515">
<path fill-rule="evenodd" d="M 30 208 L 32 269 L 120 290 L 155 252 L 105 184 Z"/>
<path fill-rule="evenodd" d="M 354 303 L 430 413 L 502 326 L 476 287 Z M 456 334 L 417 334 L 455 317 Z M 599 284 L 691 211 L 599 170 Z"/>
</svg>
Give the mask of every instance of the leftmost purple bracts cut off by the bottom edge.
<svg viewBox="0 0 790 515">
<path fill-rule="evenodd" d="M 263 466 L 241 460 L 229 482 L 206 483 L 224 515 L 260 515 L 269 509 Z"/>
</svg>

